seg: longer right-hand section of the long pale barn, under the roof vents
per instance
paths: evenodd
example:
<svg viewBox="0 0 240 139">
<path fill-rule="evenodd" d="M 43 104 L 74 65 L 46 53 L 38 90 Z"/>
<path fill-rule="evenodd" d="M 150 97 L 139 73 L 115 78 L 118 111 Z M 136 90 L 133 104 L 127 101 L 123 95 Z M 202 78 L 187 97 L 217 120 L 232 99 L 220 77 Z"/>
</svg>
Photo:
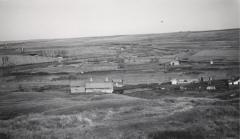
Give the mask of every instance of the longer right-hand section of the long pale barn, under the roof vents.
<svg viewBox="0 0 240 139">
<path fill-rule="evenodd" d="M 101 82 L 95 83 L 90 82 L 85 85 L 86 93 L 112 93 L 113 83 L 111 82 Z"/>
</svg>

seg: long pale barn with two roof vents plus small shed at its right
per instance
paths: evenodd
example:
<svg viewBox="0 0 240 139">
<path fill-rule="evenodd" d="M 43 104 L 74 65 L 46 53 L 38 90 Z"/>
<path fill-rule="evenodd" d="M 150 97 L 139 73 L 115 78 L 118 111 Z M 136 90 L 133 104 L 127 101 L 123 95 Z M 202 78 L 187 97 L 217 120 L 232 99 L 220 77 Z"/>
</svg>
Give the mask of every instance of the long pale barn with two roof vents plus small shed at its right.
<svg viewBox="0 0 240 139">
<path fill-rule="evenodd" d="M 89 82 L 74 81 L 70 84 L 70 91 L 72 94 L 78 93 L 113 93 L 115 88 L 123 87 L 123 80 L 113 79 L 109 81 L 106 78 L 103 82 L 95 82 L 90 78 Z"/>
</svg>

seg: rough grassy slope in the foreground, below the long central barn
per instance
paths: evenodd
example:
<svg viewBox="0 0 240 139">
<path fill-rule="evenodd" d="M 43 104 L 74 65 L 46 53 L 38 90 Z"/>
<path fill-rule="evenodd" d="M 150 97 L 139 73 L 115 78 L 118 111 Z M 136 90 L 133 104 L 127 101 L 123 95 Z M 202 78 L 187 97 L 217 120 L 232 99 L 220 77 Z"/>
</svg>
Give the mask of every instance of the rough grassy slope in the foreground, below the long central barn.
<svg viewBox="0 0 240 139">
<path fill-rule="evenodd" d="M 136 93 L 131 97 L 57 91 L 3 94 L 1 135 L 23 139 L 239 136 L 239 95 L 226 99 L 222 93 L 205 93 L 204 97 L 197 96 L 197 92 L 186 97 L 180 92 Z M 233 94 L 239 94 L 239 90 L 227 96 Z M 139 98 L 144 95 L 148 97 Z"/>
</svg>

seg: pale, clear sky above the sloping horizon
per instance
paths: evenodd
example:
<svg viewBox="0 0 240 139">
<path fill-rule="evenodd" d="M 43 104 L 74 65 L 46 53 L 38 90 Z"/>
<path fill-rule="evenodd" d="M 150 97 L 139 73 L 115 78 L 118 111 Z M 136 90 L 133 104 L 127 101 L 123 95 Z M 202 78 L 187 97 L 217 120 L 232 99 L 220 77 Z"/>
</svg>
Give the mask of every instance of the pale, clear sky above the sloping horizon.
<svg viewBox="0 0 240 139">
<path fill-rule="evenodd" d="M 240 0 L 0 0 L 0 41 L 239 28 Z"/>
</svg>

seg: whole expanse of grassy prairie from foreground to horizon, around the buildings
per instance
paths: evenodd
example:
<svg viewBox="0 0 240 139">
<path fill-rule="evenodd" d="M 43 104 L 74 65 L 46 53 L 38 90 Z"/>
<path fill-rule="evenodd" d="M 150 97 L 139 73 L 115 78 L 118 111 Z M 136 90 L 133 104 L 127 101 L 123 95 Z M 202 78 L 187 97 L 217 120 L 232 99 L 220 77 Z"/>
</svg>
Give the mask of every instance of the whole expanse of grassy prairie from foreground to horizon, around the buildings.
<svg viewBox="0 0 240 139">
<path fill-rule="evenodd" d="M 199 91 L 160 84 L 239 76 L 239 33 L 0 42 L 0 58 L 15 62 L 0 67 L 0 138 L 238 139 L 239 86 Z M 61 62 L 51 61 L 59 56 Z M 168 66 L 176 57 L 180 65 Z M 123 79 L 124 93 L 69 93 L 72 81 L 91 77 Z"/>
</svg>

